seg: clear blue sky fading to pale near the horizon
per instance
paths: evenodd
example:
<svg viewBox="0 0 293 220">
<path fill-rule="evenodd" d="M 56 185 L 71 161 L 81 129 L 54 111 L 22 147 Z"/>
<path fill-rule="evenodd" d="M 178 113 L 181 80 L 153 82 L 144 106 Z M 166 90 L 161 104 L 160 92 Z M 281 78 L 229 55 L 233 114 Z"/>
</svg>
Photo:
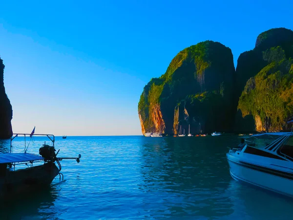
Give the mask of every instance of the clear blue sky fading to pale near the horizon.
<svg viewBox="0 0 293 220">
<path fill-rule="evenodd" d="M 143 87 L 205 40 L 234 64 L 258 34 L 293 29 L 292 0 L 0 2 L 0 56 L 14 132 L 141 134 Z"/>
</svg>

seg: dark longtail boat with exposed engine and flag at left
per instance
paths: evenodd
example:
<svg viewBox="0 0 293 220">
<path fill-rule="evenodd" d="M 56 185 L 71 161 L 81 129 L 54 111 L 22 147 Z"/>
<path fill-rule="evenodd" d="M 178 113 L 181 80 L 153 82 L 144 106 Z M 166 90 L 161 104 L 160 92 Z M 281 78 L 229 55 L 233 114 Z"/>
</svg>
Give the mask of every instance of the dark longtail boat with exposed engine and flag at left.
<svg viewBox="0 0 293 220">
<path fill-rule="evenodd" d="M 81 154 L 78 157 L 57 157 L 60 150 L 55 153 L 55 136 L 52 134 L 33 134 L 47 136 L 51 140 L 51 145 L 44 143 L 41 146 L 40 155 L 27 153 L 29 144 L 25 142 L 25 137 L 32 138 L 32 134 L 14 133 L 13 135 L 10 139 L 10 153 L 0 153 L 0 198 L 42 189 L 50 185 L 58 175 L 59 183 L 61 183 L 64 181 L 64 176 L 60 172 L 62 169 L 60 161 L 75 159 L 78 163 L 80 162 Z M 18 136 L 24 136 L 24 153 L 12 151 L 12 141 Z M 38 163 L 41 165 L 35 166 Z"/>
</svg>

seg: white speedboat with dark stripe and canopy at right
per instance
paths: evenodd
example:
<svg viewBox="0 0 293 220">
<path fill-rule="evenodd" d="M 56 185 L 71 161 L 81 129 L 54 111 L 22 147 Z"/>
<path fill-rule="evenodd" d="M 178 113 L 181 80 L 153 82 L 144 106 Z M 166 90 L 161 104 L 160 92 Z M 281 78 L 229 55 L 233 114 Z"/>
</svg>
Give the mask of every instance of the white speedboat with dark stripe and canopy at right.
<svg viewBox="0 0 293 220">
<path fill-rule="evenodd" d="M 226 154 L 231 176 L 293 197 L 293 133 L 255 134 L 245 141 Z"/>
</svg>

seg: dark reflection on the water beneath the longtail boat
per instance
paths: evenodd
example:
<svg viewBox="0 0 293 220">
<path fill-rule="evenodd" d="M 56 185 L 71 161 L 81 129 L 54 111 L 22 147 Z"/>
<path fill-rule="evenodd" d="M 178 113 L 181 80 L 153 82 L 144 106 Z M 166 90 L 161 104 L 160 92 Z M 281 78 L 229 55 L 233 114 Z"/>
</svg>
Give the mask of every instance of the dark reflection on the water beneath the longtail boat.
<svg viewBox="0 0 293 220">
<path fill-rule="evenodd" d="M 38 219 L 58 219 L 57 210 L 54 207 L 58 193 L 59 190 L 55 187 L 47 187 L 42 191 L 0 201 L 1 218 L 29 220 L 38 216 Z"/>
</svg>

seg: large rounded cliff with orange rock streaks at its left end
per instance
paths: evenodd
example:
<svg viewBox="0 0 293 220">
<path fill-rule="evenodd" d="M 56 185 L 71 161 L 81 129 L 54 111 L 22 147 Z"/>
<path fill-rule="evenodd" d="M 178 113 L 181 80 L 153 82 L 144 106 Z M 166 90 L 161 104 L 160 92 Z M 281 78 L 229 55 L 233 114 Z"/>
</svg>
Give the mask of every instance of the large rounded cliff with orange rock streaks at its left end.
<svg viewBox="0 0 293 220">
<path fill-rule="evenodd" d="M 165 74 L 141 95 L 142 132 L 177 134 L 230 130 L 235 108 L 235 69 L 230 48 L 206 41 L 180 51 Z"/>
</svg>

